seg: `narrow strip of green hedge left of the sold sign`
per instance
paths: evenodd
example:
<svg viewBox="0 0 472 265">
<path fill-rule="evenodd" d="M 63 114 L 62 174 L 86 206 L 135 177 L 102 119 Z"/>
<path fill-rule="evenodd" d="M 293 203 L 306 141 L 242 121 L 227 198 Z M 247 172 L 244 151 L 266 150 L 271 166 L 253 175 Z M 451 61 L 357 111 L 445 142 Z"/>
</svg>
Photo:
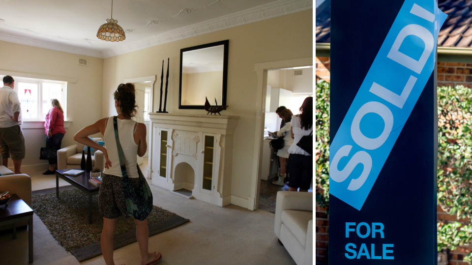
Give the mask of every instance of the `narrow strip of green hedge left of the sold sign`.
<svg viewBox="0 0 472 265">
<path fill-rule="evenodd" d="M 316 84 L 316 202 L 329 207 L 329 83 Z"/>
</svg>

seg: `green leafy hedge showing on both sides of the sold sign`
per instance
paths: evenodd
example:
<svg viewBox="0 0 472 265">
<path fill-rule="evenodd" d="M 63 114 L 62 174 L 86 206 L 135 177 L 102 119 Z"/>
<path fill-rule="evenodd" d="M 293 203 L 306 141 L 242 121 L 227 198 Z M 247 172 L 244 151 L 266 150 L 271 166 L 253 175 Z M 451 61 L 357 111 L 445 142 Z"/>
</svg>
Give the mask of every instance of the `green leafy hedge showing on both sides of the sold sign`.
<svg viewBox="0 0 472 265">
<path fill-rule="evenodd" d="M 472 89 L 438 87 L 438 205 L 461 221 L 438 222 L 438 251 L 471 244 L 471 129 Z M 323 80 L 316 84 L 315 148 L 316 202 L 329 212 L 329 83 Z M 472 253 L 464 261 L 471 262 Z"/>
</svg>

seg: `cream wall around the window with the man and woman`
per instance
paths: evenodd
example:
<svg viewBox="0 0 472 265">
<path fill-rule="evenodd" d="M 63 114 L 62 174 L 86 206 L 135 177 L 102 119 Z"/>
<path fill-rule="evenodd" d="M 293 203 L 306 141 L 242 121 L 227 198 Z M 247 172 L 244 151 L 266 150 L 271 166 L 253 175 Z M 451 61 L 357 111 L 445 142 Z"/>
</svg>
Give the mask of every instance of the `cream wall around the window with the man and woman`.
<svg viewBox="0 0 472 265">
<path fill-rule="evenodd" d="M 0 51 L 2 71 L 77 79 L 67 84 L 67 119 L 72 123 L 65 129 L 62 147 L 75 143 L 74 134 L 101 117 L 103 59 L 5 41 L 0 41 Z M 89 66 L 77 65 L 79 57 L 88 59 Z M 22 172 L 46 169 L 48 162 L 39 160 L 39 149 L 46 146 L 44 129 L 23 129 L 23 133 Z M 11 160 L 8 166 L 13 167 Z"/>
</svg>

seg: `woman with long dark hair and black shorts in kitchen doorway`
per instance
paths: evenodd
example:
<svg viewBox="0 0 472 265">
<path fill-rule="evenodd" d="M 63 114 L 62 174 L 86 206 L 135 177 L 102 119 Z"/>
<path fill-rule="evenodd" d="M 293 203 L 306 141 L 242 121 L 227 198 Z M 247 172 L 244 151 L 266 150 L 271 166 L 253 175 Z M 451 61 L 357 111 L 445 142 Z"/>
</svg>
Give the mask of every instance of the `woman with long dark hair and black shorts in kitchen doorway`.
<svg viewBox="0 0 472 265">
<path fill-rule="evenodd" d="M 300 107 L 301 114 L 292 117 L 292 137 L 294 143 L 289 148 L 288 168 L 290 191 L 308 191 L 313 179 L 313 157 L 296 144 L 301 137 L 313 133 L 313 97 L 305 99 Z"/>
</svg>

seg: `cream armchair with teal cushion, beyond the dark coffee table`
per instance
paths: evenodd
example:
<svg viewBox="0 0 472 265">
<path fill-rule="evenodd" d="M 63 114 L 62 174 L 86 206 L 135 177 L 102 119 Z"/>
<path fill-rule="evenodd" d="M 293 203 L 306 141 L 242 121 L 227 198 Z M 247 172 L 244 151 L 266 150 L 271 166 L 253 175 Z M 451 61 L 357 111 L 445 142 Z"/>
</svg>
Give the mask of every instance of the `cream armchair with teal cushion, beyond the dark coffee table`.
<svg viewBox="0 0 472 265">
<path fill-rule="evenodd" d="M 96 141 L 102 141 L 102 138 L 92 138 Z M 85 145 L 77 143 L 70 145 L 58 150 L 58 169 L 67 169 L 80 167 L 80 162 L 82 160 L 82 150 L 84 150 Z M 85 152 L 85 158 L 87 159 L 87 151 Z M 105 168 L 105 156 L 103 152 L 97 150 L 95 155 L 92 156 L 92 166 L 98 167 L 101 170 Z"/>
</svg>

